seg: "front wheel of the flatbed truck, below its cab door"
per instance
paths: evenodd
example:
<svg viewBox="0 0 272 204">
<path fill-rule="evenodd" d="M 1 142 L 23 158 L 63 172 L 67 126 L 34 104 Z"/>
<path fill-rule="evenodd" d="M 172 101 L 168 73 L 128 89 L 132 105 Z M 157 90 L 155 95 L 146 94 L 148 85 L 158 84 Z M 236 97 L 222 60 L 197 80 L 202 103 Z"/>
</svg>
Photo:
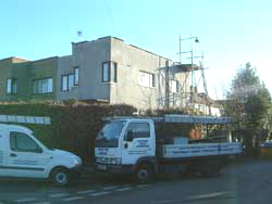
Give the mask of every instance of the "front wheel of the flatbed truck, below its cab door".
<svg viewBox="0 0 272 204">
<path fill-rule="evenodd" d="M 147 183 L 154 179 L 154 170 L 150 164 L 140 164 L 135 171 L 135 179 L 139 183 Z"/>
</svg>

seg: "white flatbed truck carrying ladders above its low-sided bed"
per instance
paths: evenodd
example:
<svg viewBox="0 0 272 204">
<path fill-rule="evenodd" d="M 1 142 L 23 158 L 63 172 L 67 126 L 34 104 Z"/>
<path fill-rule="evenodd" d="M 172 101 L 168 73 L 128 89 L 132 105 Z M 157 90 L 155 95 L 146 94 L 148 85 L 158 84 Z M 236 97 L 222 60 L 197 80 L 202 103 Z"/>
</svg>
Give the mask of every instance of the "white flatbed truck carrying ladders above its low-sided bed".
<svg viewBox="0 0 272 204">
<path fill-rule="evenodd" d="M 158 132 L 157 126 L 227 125 L 228 117 L 165 115 L 164 117 L 111 117 L 96 139 L 96 169 L 108 174 L 131 174 L 139 182 L 153 180 L 158 174 L 199 171 L 219 174 L 228 156 L 243 152 L 242 143 L 232 141 L 191 142 L 187 137 Z M 165 140 L 165 138 L 168 140 Z M 172 138 L 172 142 L 169 142 Z"/>
</svg>

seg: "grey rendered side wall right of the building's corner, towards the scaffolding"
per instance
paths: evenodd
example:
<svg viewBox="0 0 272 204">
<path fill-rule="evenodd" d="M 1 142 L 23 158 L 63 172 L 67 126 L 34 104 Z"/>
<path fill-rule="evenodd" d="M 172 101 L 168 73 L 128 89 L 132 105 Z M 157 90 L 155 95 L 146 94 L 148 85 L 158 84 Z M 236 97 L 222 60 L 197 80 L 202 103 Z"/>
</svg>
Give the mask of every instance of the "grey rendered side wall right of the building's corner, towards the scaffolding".
<svg viewBox="0 0 272 204">
<path fill-rule="evenodd" d="M 112 38 L 111 61 L 118 62 L 119 68 L 118 84 L 111 85 L 111 103 L 127 103 L 139 110 L 163 109 L 165 106 L 165 66 L 168 59 Z M 173 62 L 170 61 L 169 66 L 172 65 Z M 156 87 L 139 85 L 140 71 L 154 74 Z M 184 81 L 184 74 L 176 73 L 174 68 L 170 68 L 170 78 Z M 188 88 L 187 85 L 186 89 L 188 90 Z M 180 94 L 170 94 L 170 105 L 181 106 Z"/>
</svg>

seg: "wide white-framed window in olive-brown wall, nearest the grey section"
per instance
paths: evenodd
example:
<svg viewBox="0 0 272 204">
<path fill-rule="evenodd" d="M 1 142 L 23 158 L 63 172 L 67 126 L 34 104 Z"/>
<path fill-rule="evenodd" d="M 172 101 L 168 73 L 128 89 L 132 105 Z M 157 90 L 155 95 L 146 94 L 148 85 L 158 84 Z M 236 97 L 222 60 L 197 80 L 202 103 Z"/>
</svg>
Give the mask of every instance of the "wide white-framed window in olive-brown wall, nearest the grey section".
<svg viewBox="0 0 272 204">
<path fill-rule="evenodd" d="M 34 94 L 44 94 L 53 92 L 53 79 L 35 79 L 33 80 L 33 93 Z"/>
</svg>

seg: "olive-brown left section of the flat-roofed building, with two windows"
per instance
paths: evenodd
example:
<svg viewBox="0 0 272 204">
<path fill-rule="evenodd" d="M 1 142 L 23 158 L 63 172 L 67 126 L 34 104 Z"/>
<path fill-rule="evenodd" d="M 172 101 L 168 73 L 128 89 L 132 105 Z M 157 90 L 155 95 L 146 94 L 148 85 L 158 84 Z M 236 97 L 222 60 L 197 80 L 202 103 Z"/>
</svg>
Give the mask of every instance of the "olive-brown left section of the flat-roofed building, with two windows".
<svg viewBox="0 0 272 204">
<path fill-rule="evenodd" d="M 58 58 L 27 61 L 0 60 L 0 101 L 37 101 L 57 99 Z"/>
</svg>

